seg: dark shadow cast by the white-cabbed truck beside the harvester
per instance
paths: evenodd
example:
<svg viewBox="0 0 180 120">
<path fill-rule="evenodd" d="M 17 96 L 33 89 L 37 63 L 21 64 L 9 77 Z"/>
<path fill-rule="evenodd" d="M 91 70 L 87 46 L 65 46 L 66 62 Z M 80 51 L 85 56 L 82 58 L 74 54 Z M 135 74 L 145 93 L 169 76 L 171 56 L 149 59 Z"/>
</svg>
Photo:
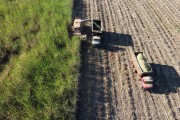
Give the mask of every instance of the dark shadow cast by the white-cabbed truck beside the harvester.
<svg viewBox="0 0 180 120">
<path fill-rule="evenodd" d="M 99 49 L 104 49 L 111 52 L 124 51 L 124 46 L 133 46 L 131 35 L 115 33 L 115 32 L 102 32 L 102 43 Z"/>
</svg>

